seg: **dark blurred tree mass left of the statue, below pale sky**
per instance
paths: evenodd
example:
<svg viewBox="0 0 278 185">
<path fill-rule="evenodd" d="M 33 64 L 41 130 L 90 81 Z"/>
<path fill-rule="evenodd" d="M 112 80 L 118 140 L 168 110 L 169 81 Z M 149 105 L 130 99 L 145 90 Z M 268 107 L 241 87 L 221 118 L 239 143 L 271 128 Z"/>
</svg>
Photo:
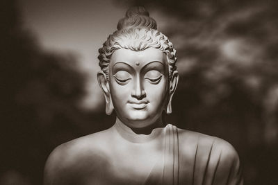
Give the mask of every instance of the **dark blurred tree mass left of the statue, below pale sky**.
<svg viewBox="0 0 278 185">
<path fill-rule="evenodd" d="M 58 144 L 90 132 L 74 55 L 49 53 L 24 30 L 17 1 L 1 1 L 0 184 L 42 184 Z M 97 128 L 99 129 L 99 128 Z"/>
</svg>

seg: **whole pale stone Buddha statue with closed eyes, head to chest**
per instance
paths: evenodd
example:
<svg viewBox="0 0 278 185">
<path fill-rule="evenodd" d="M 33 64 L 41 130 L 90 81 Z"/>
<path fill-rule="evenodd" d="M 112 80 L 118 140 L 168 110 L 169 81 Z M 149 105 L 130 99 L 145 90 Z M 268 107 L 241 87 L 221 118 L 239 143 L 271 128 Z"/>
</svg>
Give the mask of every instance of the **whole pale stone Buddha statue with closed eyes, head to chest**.
<svg viewBox="0 0 278 185">
<path fill-rule="evenodd" d="M 99 49 L 108 130 L 58 146 L 44 184 L 243 184 L 236 150 L 163 121 L 179 80 L 176 50 L 142 7 L 127 10 Z"/>
</svg>

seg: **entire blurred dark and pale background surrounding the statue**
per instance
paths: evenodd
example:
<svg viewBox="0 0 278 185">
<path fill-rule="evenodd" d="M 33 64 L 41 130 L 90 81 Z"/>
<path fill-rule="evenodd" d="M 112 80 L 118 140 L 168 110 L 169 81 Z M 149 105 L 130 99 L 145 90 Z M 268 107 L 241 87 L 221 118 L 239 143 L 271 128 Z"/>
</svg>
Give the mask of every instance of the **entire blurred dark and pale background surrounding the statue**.
<svg viewBox="0 0 278 185">
<path fill-rule="evenodd" d="M 269 0 L 2 0 L 0 184 L 42 184 L 51 150 L 113 125 L 97 50 L 134 5 L 178 51 L 167 121 L 229 141 L 245 184 L 278 184 L 278 4 Z"/>
</svg>

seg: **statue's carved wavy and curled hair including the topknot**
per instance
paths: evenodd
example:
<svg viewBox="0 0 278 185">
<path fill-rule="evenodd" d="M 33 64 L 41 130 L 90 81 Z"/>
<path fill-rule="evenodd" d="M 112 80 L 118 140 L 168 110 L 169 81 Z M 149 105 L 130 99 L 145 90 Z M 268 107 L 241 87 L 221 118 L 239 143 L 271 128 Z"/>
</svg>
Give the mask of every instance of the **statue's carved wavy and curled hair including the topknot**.
<svg viewBox="0 0 278 185">
<path fill-rule="evenodd" d="M 149 12 L 143 7 L 133 7 L 126 11 L 126 17 L 120 19 L 117 30 L 109 35 L 102 48 L 99 49 L 99 66 L 109 80 L 108 65 L 112 54 L 117 49 L 144 51 L 145 49 L 159 49 L 167 55 L 169 64 L 169 78 L 177 69 L 176 50 L 172 42 L 156 30 L 156 21 L 149 17 Z"/>
</svg>

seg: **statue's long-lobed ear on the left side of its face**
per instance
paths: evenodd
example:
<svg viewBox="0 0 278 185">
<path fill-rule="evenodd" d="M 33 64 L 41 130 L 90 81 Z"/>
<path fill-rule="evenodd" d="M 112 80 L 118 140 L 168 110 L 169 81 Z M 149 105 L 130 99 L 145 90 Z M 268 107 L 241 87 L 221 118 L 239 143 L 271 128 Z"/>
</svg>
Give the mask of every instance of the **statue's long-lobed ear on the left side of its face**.
<svg viewBox="0 0 278 185">
<path fill-rule="evenodd" d="M 104 71 L 99 71 L 97 73 L 97 81 L 99 82 L 99 86 L 101 87 L 102 91 L 104 91 L 104 97 L 106 102 L 105 112 L 107 115 L 110 115 L 113 112 L 114 106 L 111 98 L 109 83 L 106 79 L 106 74 L 104 73 Z"/>
</svg>

